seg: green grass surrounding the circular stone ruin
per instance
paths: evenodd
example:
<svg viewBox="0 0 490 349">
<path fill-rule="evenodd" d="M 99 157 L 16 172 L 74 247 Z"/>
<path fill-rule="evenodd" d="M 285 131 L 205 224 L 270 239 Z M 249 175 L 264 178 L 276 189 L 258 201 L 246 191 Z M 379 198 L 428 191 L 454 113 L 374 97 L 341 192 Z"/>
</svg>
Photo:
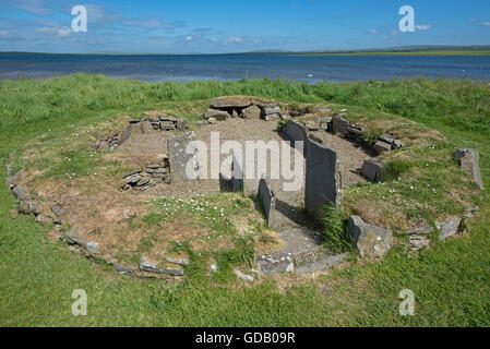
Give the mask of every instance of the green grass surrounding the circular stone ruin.
<svg viewBox="0 0 490 349">
<path fill-rule="evenodd" d="M 481 155 L 486 188 L 490 188 L 490 92 L 488 82 L 470 81 L 143 84 L 80 74 L 49 81 L 2 81 L 0 158 L 21 154 L 32 140 L 52 142 L 121 113 L 187 108 L 189 101 L 238 94 L 279 101 L 332 103 L 349 109 L 356 105 L 372 115 L 391 112 L 425 123 L 445 134 L 454 146 L 476 147 Z M 394 167 L 403 176 L 411 165 Z M 75 168 L 74 172 L 83 168 Z M 53 174 L 62 174 L 63 170 Z M 432 176 L 437 176 L 437 170 Z M 433 180 L 427 177 L 428 182 Z M 4 170 L 0 172 L 0 182 L 5 182 Z M 385 185 L 389 190 L 393 182 Z M 413 184 L 406 185 L 403 190 L 409 193 Z M 422 188 L 420 184 L 414 197 L 430 203 Z M 7 185 L 0 185 L 0 325 L 490 326 L 487 193 L 486 190 L 477 219 L 459 239 L 411 257 L 393 250 L 380 263 L 362 265 L 354 261 L 314 281 L 291 280 L 279 292 L 271 278 L 253 287 L 241 287 L 231 277 L 208 278 L 196 255 L 191 255 L 189 277 L 178 287 L 117 275 L 104 263 L 88 261 L 70 253 L 61 243 L 49 242 L 48 228 L 13 214 L 17 204 Z M 247 241 L 237 243 L 236 250 L 217 256 L 223 265 L 227 261 L 243 262 L 241 253 L 248 250 Z M 327 297 L 322 296 L 321 289 L 325 282 L 333 289 Z M 398 293 L 406 288 L 415 292 L 415 316 L 398 314 Z M 71 314 L 74 289 L 86 290 L 88 316 Z"/>
</svg>

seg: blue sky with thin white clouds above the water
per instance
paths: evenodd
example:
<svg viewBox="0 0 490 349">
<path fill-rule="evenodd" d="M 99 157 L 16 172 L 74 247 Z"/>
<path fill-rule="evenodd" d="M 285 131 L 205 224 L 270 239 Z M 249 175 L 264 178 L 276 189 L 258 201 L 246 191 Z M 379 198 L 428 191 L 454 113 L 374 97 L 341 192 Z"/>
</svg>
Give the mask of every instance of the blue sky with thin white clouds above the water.
<svg viewBox="0 0 490 349">
<path fill-rule="evenodd" d="M 72 29 L 72 9 L 87 31 Z M 399 9 L 415 10 L 403 33 Z M 489 0 L 0 0 L 0 51 L 223 53 L 489 45 Z"/>
</svg>

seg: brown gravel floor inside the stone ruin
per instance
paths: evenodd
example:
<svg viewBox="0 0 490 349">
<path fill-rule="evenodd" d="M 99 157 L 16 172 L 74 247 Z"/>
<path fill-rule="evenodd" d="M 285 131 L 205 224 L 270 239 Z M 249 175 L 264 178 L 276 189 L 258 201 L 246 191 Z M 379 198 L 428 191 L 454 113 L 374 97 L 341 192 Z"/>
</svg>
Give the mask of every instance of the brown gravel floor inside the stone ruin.
<svg viewBox="0 0 490 349">
<path fill-rule="evenodd" d="M 237 141 L 244 149 L 246 141 L 283 141 L 284 139 L 276 132 L 276 122 L 251 120 L 251 119 L 231 119 L 217 124 L 208 124 L 196 127 L 195 140 L 203 141 L 208 148 L 207 161 L 211 161 L 211 133 L 219 132 L 219 141 Z M 324 131 L 312 132 L 315 136 L 323 141 L 323 145 L 337 151 L 340 155 L 340 172 L 343 178 L 343 186 L 348 186 L 355 183 L 364 181 L 358 174 L 358 170 L 362 166 L 364 159 L 371 157 L 360 146 L 343 140 L 338 136 L 328 134 Z M 135 156 L 142 154 L 167 154 L 167 139 L 179 134 L 178 132 L 160 132 L 154 131 L 147 134 L 132 134 L 131 137 L 122 144 L 119 148 L 127 151 Z M 292 154 L 292 149 L 291 149 Z M 220 155 L 220 159 L 225 159 L 229 154 Z M 291 155 L 292 156 L 292 155 Z M 270 159 L 267 158 L 267 164 Z M 304 160 L 303 160 L 304 173 Z M 211 171 L 211 165 L 208 173 Z M 267 165 L 268 167 L 268 165 Z M 267 176 L 268 177 L 268 176 Z M 290 226 L 307 226 L 308 220 L 304 217 L 301 207 L 304 203 L 304 182 L 297 191 L 284 191 L 282 180 L 270 180 L 272 190 L 277 198 L 279 212 L 284 216 L 284 228 Z M 196 194 L 212 194 L 220 192 L 218 180 L 198 180 L 192 182 L 184 182 L 179 184 L 160 184 L 151 191 L 158 196 L 193 196 Z"/>
</svg>

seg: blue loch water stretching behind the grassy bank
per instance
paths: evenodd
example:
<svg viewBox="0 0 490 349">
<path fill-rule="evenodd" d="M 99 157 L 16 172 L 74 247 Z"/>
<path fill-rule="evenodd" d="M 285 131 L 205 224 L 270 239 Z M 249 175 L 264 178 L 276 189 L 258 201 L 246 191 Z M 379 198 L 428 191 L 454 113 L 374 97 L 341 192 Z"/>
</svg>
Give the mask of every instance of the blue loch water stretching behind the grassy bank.
<svg viewBox="0 0 490 349">
<path fill-rule="evenodd" d="M 144 82 L 270 77 L 348 82 L 410 76 L 490 81 L 490 57 L 308 57 L 288 55 L 0 53 L 0 80 L 76 72 Z"/>
</svg>

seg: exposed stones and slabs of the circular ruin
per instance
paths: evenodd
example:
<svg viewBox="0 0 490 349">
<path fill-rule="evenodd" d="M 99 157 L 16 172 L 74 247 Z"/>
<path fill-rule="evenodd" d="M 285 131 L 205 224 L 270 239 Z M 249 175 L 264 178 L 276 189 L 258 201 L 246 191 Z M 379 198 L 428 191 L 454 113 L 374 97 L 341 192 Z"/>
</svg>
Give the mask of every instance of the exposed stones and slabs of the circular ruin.
<svg viewBox="0 0 490 349">
<path fill-rule="evenodd" d="M 324 111 L 330 111 L 323 109 Z M 320 110 L 322 111 L 322 110 Z M 289 116 L 295 115 L 292 110 L 288 111 Z M 206 123 L 215 123 L 229 118 L 256 118 L 265 121 L 287 119 L 288 115 L 283 113 L 277 105 L 255 101 L 252 99 L 229 99 L 217 98 L 211 105 L 205 113 Z M 184 119 L 171 117 L 150 117 L 142 120 L 130 120 L 130 127 L 122 132 L 111 133 L 100 139 L 96 148 L 112 149 L 129 139 L 131 133 L 146 133 L 152 130 L 159 131 L 184 131 L 188 128 Z M 321 144 L 321 140 L 316 140 L 310 134 L 310 131 L 322 130 L 350 139 L 363 146 L 371 147 L 378 154 L 391 152 L 403 147 L 403 143 L 398 140 L 381 135 L 374 142 L 366 141 L 366 130 L 357 124 L 347 121 L 343 116 L 321 117 L 315 121 L 306 121 L 303 124 L 288 119 L 282 128 L 282 134 L 291 141 L 304 142 L 303 155 L 306 159 L 306 188 L 304 188 L 304 207 L 306 210 L 314 218 L 321 217 L 321 207 L 331 204 L 339 206 L 342 204 L 342 178 L 338 169 L 338 154 Z M 126 174 L 122 178 L 122 190 L 144 191 L 158 183 L 179 183 L 182 181 L 191 181 L 186 166 L 193 164 L 198 169 L 195 155 L 186 154 L 187 144 L 194 137 L 193 132 L 182 133 L 178 136 L 167 140 L 168 156 L 163 156 L 157 163 L 148 164 L 144 169 Z M 454 158 L 459 167 L 473 176 L 482 189 L 481 173 L 478 167 L 478 152 L 476 149 L 458 149 L 454 153 Z M 243 173 L 243 165 L 239 164 L 236 158 L 232 161 L 232 170 Z M 361 173 L 371 181 L 381 181 L 386 169 L 374 158 L 364 161 Z M 33 215 L 36 221 L 43 225 L 55 224 L 56 227 L 61 225 L 59 216 L 59 207 L 56 204 L 50 205 L 50 212 L 41 212 L 36 203 L 36 197 L 32 195 L 27 188 L 17 185 L 19 174 L 10 172 L 8 166 L 8 184 L 13 195 L 20 201 L 19 210 L 23 214 Z M 288 227 L 285 229 L 280 224 L 280 213 L 278 208 L 278 200 L 272 190 L 268 180 L 262 178 L 256 182 L 247 183 L 246 180 L 232 178 L 232 191 L 243 191 L 244 195 L 258 194 L 261 198 L 262 207 L 267 220 L 267 225 L 273 229 L 282 229 L 280 236 L 285 240 L 286 248 L 271 255 L 255 255 L 254 260 L 263 274 L 294 272 L 308 273 L 312 270 L 323 270 L 342 261 L 348 253 L 338 255 L 326 255 L 319 245 L 323 241 L 320 233 L 311 231 L 306 227 Z M 476 208 L 475 208 L 476 209 Z M 470 216 L 475 209 L 468 210 L 465 215 Z M 435 222 L 439 230 L 439 239 L 444 240 L 456 234 L 462 229 L 462 218 L 453 217 L 442 222 Z M 348 231 L 352 237 L 352 242 L 361 257 L 378 258 L 384 256 L 393 245 L 393 233 L 389 229 L 374 227 L 366 224 L 358 216 L 350 217 L 348 221 Z M 413 251 L 418 251 L 430 244 L 430 236 L 434 228 L 429 225 L 405 231 L 409 239 L 409 245 Z M 82 241 L 76 233 L 69 231 L 65 233 L 65 241 L 72 245 L 79 245 L 85 249 L 88 254 L 96 255 L 98 253 L 98 244 L 91 241 Z M 176 262 L 178 265 L 187 265 L 184 262 Z M 136 275 L 134 270 L 128 272 L 122 266 L 115 264 L 115 268 L 119 273 Z M 183 269 L 160 270 L 151 262 L 143 261 L 140 265 L 141 270 L 147 273 L 163 273 L 170 275 L 183 275 Z M 240 272 L 241 273 L 241 272 Z M 247 275 L 243 275 L 247 277 Z"/>
</svg>

